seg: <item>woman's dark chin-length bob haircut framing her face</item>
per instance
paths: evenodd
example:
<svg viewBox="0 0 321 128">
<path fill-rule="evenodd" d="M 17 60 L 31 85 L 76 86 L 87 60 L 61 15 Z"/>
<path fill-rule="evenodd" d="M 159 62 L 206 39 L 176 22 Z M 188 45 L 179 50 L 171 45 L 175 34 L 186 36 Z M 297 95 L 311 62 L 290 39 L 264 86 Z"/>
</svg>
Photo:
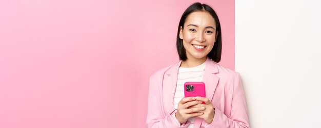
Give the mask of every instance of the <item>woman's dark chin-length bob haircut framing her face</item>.
<svg viewBox="0 0 321 128">
<path fill-rule="evenodd" d="M 184 23 L 185 23 L 187 16 L 189 14 L 191 14 L 192 12 L 196 12 L 196 11 L 209 12 L 215 20 L 216 32 L 218 33 L 218 35 L 216 38 L 216 42 L 214 43 L 214 46 L 213 46 L 211 52 L 207 55 L 207 57 L 209 57 L 210 59 L 212 59 L 213 61 L 218 63 L 220 61 L 220 55 L 222 54 L 222 33 L 220 31 L 220 23 L 219 23 L 219 20 L 218 20 L 218 17 L 217 17 L 217 14 L 215 13 L 215 11 L 210 6 L 208 6 L 206 4 L 200 4 L 200 3 L 194 3 L 190 7 L 188 7 L 179 20 L 177 39 L 176 39 L 176 48 L 177 48 L 177 52 L 179 55 L 179 59 L 184 60 L 184 61 L 187 59 L 186 50 L 183 46 L 183 40 L 179 38 L 180 27 L 182 27 L 182 29 L 184 29 Z"/>
</svg>

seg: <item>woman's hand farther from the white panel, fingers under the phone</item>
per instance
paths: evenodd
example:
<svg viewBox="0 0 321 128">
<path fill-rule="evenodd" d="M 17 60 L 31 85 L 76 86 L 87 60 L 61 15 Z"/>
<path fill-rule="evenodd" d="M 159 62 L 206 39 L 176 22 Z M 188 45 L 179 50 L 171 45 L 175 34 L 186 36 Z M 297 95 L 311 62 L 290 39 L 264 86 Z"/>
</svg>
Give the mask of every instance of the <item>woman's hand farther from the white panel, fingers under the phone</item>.
<svg viewBox="0 0 321 128">
<path fill-rule="evenodd" d="M 177 107 L 176 119 L 180 124 L 185 123 L 189 118 L 203 115 L 202 111 L 204 107 L 190 108 L 191 106 L 202 104 L 202 101 L 195 100 L 195 97 L 182 98 Z"/>
</svg>

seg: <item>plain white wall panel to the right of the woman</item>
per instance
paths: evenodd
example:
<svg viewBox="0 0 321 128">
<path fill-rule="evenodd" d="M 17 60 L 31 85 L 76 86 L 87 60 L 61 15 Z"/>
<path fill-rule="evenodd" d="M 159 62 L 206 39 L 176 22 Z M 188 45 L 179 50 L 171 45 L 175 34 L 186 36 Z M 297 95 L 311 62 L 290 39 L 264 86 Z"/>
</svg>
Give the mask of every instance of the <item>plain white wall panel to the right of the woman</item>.
<svg viewBox="0 0 321 128">
<path fill-rule="evenodd" d="M 251 127 L 321 127 L 321 1 L 235 1 Z"/>
</svg>

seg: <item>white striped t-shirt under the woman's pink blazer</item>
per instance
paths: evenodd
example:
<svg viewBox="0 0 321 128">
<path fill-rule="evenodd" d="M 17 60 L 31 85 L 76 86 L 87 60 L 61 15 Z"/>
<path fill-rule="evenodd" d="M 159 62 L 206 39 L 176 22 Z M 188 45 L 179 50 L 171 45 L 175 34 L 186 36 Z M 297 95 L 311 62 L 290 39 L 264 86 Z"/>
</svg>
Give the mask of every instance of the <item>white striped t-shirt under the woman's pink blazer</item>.
<svg viewBox="0 0 321 128">
<path fill-rule="evenodd" d="M 177 109 L 179 101 L 184 97 L 184 83 L 203 81 L 205 63 L 206 62 L 196 67 L 179 67 L 177 74 L 176 91 L 173 100 L 173 106 L 175 109 Z M 191 122 L 188 128 L 193 127 L 195 119 L 189 118 L 188 120 Z"/>
</svg>

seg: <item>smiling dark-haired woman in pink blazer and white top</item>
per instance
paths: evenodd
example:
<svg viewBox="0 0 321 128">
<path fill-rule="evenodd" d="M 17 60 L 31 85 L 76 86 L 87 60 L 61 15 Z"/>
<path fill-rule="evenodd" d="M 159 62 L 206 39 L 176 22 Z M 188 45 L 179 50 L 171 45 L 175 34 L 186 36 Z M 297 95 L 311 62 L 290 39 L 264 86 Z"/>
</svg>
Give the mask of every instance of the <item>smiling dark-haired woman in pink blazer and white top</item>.
<svg viewBox="0 0 321 128">
<path fill-rule="evenodd" d="M 217 64 L 221 37 L 211 7 L 188 7 L 178 25 L 180 61 L 150 77 L 148 127 L 249 127 L 239 74 Z M 184 83 L 195 81 L 205 83 L 206 97 L 184 97 Z"/>
</svg>

